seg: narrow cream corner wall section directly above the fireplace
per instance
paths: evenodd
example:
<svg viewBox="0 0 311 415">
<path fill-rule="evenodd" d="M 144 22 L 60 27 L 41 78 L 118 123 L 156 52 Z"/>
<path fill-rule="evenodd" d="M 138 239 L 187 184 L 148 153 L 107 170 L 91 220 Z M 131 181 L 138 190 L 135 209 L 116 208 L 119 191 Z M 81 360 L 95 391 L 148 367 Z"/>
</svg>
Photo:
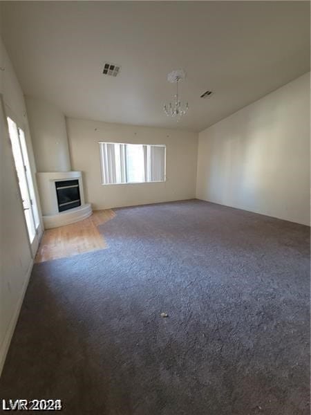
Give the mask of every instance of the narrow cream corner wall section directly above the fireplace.
<svg viewBox="0 0 311 415">
<path fill-rule="evenodd" d="M 27 96 L 26 107 L 38 172 L 69 172 L 64 114 L 50 102 Z"/>
</svg>

